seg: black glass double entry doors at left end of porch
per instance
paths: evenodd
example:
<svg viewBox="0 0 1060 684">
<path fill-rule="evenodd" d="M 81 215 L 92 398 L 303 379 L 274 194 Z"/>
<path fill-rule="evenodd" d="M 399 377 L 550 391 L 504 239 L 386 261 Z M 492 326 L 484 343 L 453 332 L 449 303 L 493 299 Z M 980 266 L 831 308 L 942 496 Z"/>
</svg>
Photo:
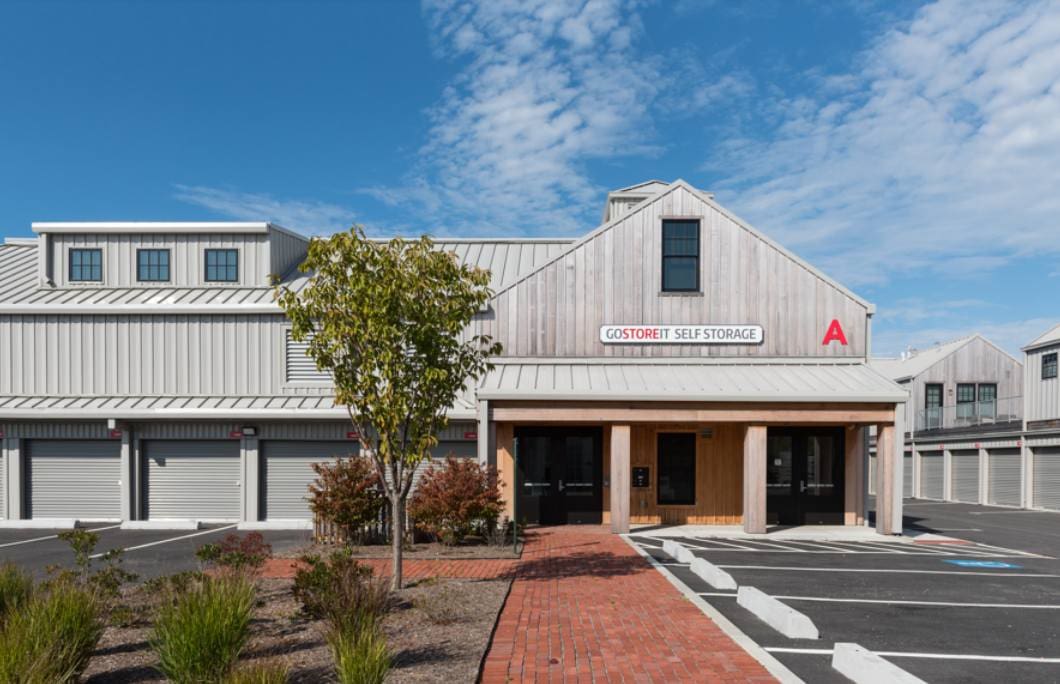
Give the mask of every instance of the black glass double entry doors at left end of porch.
<svg viewBox="0 0 1060 684">
<path fill-rule="evenodd" d="M 603 520 L 599 427 L 520 427 L 515 439 L 519 522 L 562 525 Z"/>
</svg>

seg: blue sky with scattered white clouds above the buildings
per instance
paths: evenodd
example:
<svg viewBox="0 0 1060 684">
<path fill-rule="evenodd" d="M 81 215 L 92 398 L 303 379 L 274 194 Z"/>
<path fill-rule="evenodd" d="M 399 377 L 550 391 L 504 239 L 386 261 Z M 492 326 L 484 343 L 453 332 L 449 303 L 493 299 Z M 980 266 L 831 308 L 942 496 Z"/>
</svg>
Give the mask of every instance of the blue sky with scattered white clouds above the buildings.
<svg viewBox="0 0 1060 684">
<path fill-rule="evenodd" d="M 0 4 L 0 232 L 578 235 L 685 178 L 878 306 L 880 353 L 1060 319 L 1060 5 Z"/>
</svg>

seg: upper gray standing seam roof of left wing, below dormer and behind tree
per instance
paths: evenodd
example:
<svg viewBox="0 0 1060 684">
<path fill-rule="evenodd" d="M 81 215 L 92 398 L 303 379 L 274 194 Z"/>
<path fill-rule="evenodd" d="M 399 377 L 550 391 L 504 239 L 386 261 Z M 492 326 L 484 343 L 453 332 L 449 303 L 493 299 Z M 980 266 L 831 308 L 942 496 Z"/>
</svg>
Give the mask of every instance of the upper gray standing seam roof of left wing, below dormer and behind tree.
<svg viewBox="0 0 1060 684">
<path fill-rule="evenodd" d="M 439 249 L 492 274 L 494 290 L 540 267 L 570 245 L 573 239 L 439 240 Z M 129 266 L 131 268 L 131 265 Z M 293 269 L 283 284 L 300 290 L 308 275 Z M 8 313 L 92 313 L 123 308 L 179 313 L 181 309 L 216 308 L 226 313 L 279 312 L 271 287 L 40 287 L 37 282 L 37 245 L 0 245 L 0 309 Z"/>
</svg>

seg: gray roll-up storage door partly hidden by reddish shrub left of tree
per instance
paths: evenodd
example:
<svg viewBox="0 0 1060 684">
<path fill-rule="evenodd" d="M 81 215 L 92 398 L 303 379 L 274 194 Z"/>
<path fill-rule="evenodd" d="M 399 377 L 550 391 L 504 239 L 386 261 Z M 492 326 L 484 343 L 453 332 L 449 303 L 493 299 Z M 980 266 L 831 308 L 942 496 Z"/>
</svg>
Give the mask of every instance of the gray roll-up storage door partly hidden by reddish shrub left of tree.
<svg viewBox="0 0 1060 684">
<path fill-rule="evenodd" d="M 356 454 L 354 441 L 261 442 L 262 520 L 310 520 L 308 487 L 317 478 L 313 463 Z"/>
</svg>

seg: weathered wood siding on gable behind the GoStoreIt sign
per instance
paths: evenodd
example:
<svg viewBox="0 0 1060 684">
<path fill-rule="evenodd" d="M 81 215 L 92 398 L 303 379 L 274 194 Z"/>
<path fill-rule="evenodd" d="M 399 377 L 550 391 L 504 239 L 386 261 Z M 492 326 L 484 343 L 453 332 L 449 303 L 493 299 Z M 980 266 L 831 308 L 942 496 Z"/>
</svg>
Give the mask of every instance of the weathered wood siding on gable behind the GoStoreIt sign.
<svg viewBox="0 0 1060 684">
<path fill-rule="evenodd" d="M 661 220 L 701 218 L 702 294 L 661 290 Z M 822 346 L 838 319 L 848 346 Z M 866 353 L 867 310 L 684 188 L 494 298 L 476 329 L 509 356 L 853 356 Z M 618 346 L 602 325 L 758 323 L 760 346 Z"/>
</svg>

